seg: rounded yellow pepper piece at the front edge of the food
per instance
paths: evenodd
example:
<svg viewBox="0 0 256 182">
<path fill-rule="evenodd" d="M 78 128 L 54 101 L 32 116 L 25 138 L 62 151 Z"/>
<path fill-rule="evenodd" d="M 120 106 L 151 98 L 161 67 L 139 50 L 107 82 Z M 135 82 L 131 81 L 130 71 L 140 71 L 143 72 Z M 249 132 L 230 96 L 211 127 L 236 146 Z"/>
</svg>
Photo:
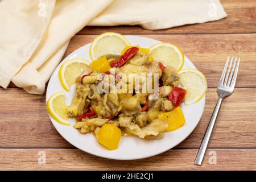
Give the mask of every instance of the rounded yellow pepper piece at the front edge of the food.
<svg viewBox="0 0 256 182">
<path fill-rule="evenodd" d="M 113 124 L 104 124 L 98 132 L 98 143 L 115 150 L 118 148 L 122 131 Z"/>
</svg>

